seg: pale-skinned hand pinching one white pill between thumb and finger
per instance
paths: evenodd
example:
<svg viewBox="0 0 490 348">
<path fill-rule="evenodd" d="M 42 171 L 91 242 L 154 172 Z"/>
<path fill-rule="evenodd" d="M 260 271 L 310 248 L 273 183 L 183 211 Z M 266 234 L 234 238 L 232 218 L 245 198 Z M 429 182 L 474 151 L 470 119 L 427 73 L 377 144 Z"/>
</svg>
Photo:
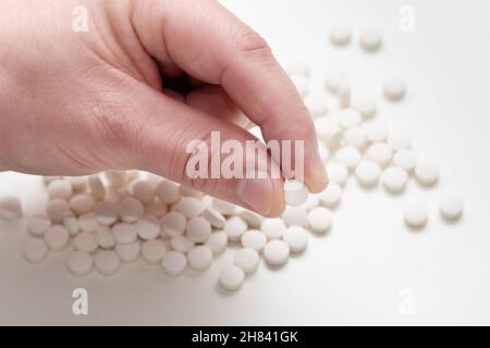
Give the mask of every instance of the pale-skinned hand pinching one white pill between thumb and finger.
<svg viewBox="0 0 490 348">
<path fill-rule="evenodd" d="M 72 29 L 88 9 L 88 33 Z M 191 179 L 195 139 L 305 141 L 305 184 L 328 183 L 310 115 L 267 42 L 213 0 L 2 0 L 0 170 L 138 169 L 278 216 L 283 179 Z M 179 77 L 185 94 L 168 89 Z M 163 80 L 163 84 L 162 84 Z"/>
</svg>

